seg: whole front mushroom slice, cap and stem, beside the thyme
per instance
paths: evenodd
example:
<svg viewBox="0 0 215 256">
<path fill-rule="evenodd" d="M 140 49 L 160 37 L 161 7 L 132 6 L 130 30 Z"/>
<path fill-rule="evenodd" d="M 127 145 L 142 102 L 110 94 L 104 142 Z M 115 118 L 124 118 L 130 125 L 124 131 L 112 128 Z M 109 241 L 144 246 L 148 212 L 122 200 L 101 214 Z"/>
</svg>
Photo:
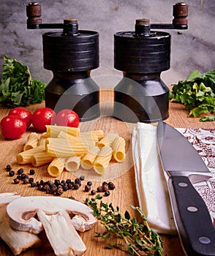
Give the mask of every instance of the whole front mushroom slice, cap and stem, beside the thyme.
<svg viewBox="0 0 215 256">
<path fill-rule="evenodd" d="M 89 230 L 97 222 L 91 208 L 64 197 L 21 197 L 7 214 L 16 230 L 39 233 L 44 227 L 56 255 L 82 255 L 86 246 L 75 229 Z"/>
</svg>

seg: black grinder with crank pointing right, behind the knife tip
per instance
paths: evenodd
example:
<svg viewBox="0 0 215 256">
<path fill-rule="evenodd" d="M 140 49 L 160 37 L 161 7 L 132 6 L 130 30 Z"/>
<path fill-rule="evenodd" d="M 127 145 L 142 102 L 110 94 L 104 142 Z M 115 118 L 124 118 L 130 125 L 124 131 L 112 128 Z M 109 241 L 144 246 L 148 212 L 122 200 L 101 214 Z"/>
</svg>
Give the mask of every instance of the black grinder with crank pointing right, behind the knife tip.
<svg viewBox="0 0 215 256">
<path fill-rule="evenodd" d="M 114 89 L 113 116 L 146 123 L 169 116 L 169 89 L 160 75 L 170 68 L 170 34 L 151 29 L 187 29 L 187 15 L 188 6 L 177 3 L 172 24 L 151 24 L 143 18 L 136 20 L 135 31 L 114 34 L 114 67 L 124 77 Z"/>
</svg>

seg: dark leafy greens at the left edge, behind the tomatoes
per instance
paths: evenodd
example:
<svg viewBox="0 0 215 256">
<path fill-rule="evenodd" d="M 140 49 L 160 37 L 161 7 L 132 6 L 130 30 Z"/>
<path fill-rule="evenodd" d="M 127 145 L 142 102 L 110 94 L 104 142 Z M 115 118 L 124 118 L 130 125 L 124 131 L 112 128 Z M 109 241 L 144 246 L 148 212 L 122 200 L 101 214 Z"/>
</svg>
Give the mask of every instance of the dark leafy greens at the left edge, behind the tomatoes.
<svg viewBox="0 0 215 256">
<path fill-rule="evenodd" d="M 0 83 L 0 104 L 7 107 L 26 106 L 45 99 L 45 83 L 32 80 L 29 67 L 4 56 Z"/>
</svg>

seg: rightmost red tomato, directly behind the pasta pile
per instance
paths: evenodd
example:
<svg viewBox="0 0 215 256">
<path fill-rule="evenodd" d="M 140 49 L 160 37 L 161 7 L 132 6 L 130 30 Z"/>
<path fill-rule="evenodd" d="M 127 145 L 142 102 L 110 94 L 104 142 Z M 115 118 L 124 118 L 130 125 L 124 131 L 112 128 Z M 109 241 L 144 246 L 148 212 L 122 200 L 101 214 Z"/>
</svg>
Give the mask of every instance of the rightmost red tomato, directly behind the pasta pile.
<svg viewBox="0 0 215 256">
<path fill-rule="evenodd" d="M 64 127 L 78 127 L 79 122 L 79 116 L 73 110 L 64 109 L 57 113 L 56 125 L 61 125 Z"/>
</svg>

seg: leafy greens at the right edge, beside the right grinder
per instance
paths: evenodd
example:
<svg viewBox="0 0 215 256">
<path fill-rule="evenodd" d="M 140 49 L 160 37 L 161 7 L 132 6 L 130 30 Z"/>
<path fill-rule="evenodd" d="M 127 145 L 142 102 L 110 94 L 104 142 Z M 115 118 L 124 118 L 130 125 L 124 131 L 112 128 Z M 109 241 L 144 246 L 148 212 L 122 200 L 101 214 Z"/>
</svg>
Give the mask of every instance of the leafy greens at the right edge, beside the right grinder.
<svg viewBox="0 0 215 256">
<path fill-rule="evenodd" d="M 171 102 L 181 102 L 189 110 L 189 116 L 215 112 L 215 69 L 201 74 L 195 70 L 185 81 L 173 84 L 170 91 Z M 214 121 L 214 116 L 201 118 L 200 121 Z"/>
</svg>

